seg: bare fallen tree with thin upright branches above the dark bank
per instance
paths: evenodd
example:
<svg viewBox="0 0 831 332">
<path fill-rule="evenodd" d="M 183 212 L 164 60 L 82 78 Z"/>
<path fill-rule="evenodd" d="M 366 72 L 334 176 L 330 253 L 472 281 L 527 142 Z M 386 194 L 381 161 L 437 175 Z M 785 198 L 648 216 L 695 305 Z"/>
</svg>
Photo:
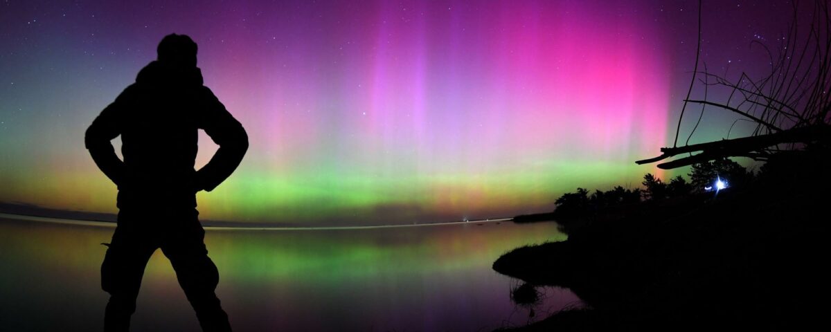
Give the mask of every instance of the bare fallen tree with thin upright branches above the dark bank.
<svg viewBox="0 0 831 332">
<path fill-rule="evenodd" d="M 652 159 L 638 160 L 637 164 L 650 164 L 681 154 L 690 154 L 681 159 L 658 164 L 658 168 L 671 169 L 691 164 L 708 162 L 727 157 L 748 157 L 755 160 L 767 160 L 774 154 L 793 154 L 799 150 L 816 146 L 829 150 L 831 144 L 831 10 L 829 3 L 817 0 L 814 13 L 810 17 L 809 28 L 798 30 L 799 7 L 793 6 L 793 22 L 789 25 L 783 44 L 779 45 L 779 55 L 760 41 L 751 42 L 751 46 L 765 48 L 770 56 L 770 75 L 752 80 L 745 72 L 738 80 L 731 81 L 724 76 L 715 75 L 705 69 L 697 71 L 698 56 L 701 53 L 701 1 L 699 1 L 699 46 L 696 49 L 696 70 L 690 91 L 684 100 L 684 108 L 678 119 L 676 139 L 672 147 L 661 148 L 661 155 Z M 807 35 L 807 36 L 805 36 Z M 802 38 L 800 38 L 802 37 Z M 801 41 L 799 41 L 801 39 Z M 801 47 L 799 45 L 802 45 Z M 704 98 L 691 99 L 690 92 L 696 76 L 704 85 Z M 729 92 L 726 100 L 707 100 L 707 89 L 725 89 Z M 743 120 L 756 124 L 756 129 L 749 137 L 739 139 L 722 139 L 720 141 L 677 146 L 681 134 L 681 120 L 687 104 L 701 105 L 701 115 L 705 108 L 730 111 L 740 115 Z M 699 122 L 692 129 L 695 133 Z M 732 129 L 732 127 L 731 127 Z M 729 133 L 728 133 L 729 136 Z M 689 143 L 687 138 L 687 143 Z M 782 146 L 780 146 L 782 145 Z M 694 154 L 697 153 L 697 154 Z"/>
</svg>

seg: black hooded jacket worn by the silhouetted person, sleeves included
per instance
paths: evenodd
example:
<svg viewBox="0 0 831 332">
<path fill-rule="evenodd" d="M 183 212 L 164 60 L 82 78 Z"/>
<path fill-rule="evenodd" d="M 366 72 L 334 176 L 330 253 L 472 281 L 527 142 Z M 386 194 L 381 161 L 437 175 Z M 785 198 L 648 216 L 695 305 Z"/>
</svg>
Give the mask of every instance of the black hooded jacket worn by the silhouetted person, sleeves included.
<svg viewBox="0 0 831 332">
<path fill-rule="evenodd" d="M 219 145 L 196 171 L 198 129 Z M 111 139 L 121 135 L 118 159 Z M 211 191 L 237 168 L 248 135 L 214 93 L 197 67 L 153 61 L 139 72 L 86 130 L 86 149 L 118 186 L 118 207 L 147 204 L 195 207 L 199 190 Z"/>
</svg>

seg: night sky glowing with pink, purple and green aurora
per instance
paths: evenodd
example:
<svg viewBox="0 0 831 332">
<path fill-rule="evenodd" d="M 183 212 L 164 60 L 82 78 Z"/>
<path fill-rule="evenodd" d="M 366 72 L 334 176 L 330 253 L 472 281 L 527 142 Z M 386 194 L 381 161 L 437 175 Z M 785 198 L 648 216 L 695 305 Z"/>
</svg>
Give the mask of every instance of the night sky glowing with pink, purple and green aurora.
<svg viewBox="0 0 831 332">
<path fill-rule="evenodd" d="M 788 18 L 764 6 L 705 2 L 702 61 L 729 73 L 764 63 L 748 43 L 775 44 Z M 633 161 L 675 135 L 696 7 L 2 2 L 0 202 L 115 212 L 83 133 L 171 32 L 199 44 L 205 85 L 251 142 L 226 183 L 199 193 L 206 219 L 453 221 L 548 211 L 578 186 L 637 187 L 655 169 Z M 203 134 L 197 164 L 215 149 Z"/>
</svg>

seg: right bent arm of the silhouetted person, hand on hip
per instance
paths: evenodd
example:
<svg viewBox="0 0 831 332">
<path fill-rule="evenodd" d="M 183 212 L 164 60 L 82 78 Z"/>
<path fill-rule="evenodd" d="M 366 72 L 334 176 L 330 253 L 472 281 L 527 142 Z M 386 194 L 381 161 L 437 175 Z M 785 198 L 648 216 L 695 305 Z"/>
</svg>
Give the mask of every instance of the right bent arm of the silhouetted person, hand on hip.
<svg viewBox="0 0 831 332">
<path fill-rule="evenodd" d="M 248 150 L 248 134 L 207 87 L 207 101 L 199 128 L 219 145 L 214 157 L 196 172 L 196 190 L 211 191 L 234 173 Z"/>
</svg>

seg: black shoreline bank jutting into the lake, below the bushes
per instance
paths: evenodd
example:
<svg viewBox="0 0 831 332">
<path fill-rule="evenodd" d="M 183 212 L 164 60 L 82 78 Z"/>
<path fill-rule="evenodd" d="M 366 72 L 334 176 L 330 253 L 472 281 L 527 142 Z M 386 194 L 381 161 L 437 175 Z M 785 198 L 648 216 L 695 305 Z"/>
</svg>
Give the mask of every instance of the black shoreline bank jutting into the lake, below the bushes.
<svg viewBox="0 0 831 332">
<path fill-rule="evenodd" d="M 829 154 L 775 163 L 748 187 L 607 213 L 566 227 L 565 242 L 499 257 L 495 271 L 568 287 L 590 306 L 514 330 L 827 325 Z"/>
</svg>

